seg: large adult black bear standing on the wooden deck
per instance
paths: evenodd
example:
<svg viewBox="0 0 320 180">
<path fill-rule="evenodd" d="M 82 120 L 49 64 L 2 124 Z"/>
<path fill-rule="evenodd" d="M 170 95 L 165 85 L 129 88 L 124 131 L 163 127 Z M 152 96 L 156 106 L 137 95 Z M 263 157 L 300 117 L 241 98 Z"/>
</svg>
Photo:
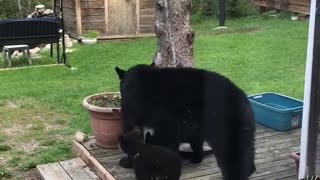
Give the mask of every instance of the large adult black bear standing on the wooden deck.
<svg viewBox="0 0 320 180">
<path fill-rule="evenodd" d="M 246 180 L 255 171 L 252 109 L 229 79 L 201 69 L 149 65 L 116 72 L 124 132 L 151 128 L 150 143 L 175 151 L 188 141 L 194 163 L 202 161 L 205 140 L 225 180 Z"/>
</svg>

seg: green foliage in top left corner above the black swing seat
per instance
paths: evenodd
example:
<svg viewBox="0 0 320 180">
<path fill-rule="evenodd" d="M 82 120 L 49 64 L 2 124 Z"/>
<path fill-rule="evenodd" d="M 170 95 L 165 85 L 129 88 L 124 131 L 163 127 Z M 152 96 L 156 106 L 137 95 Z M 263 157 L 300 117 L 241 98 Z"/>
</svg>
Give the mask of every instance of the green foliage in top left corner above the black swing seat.
<svg viewBox="0 0 320 180">
<path fill-rule="evenodd" d="M 25 18 L 39 3 L 45 5 L 46 9 L 52 9 L 52 0 L 20 0 L 20 3 L 21 9 L 18 0 L 0 0 L 0 19 Z"/>
</svg>

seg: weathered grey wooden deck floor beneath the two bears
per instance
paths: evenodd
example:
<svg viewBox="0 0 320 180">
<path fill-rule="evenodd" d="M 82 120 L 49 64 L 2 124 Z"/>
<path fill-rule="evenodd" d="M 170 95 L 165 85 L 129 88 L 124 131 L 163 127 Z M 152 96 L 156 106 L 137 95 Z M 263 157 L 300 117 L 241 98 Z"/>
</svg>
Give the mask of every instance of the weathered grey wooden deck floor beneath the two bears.
<svg viewBox="0 0 320 180">
<path fill-rule="evenodd" d="M 101 179 L 134 180 L 132 169 L 124 169 L 119 160 L 124 156 L 118 149 L 103 149 L 95 145 L 94 139 L 80 144 L 74 142 L 73 152 L 86 162 Z M 300 129 L 280 132 L 257 125 L 256 172 L 250 179 L 297 179 L 291 152 L 299 151 Z M 222 179 L 213 155 L 201 164 L 184 162 L 181 179 Z"/>
</svg>

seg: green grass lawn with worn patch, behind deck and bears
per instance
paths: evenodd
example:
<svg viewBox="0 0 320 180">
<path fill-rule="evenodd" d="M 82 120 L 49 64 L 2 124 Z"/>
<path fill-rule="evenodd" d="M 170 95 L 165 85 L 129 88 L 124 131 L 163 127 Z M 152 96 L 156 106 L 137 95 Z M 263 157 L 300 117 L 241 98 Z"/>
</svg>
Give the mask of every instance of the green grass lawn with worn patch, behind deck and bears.
<svg viewBox="0 0 320 180">
<path fill-rule="evenodd" d="M 302 99 L 307 21 L 249 17 L 227 20 L 225 32 L 214 31 L 217 24 L 192 25 L 196 67 L 226 75 L 247 94 L 273 91 Z M 68 54 L 76 70 L 0 71 L 0 179 L 70 158 L 74 133 L 91 132 L 81 101 L 119 91 L 115 66 L 149 64 L 155 49 L 155 38 L 77 46 Z"/>
</svg>

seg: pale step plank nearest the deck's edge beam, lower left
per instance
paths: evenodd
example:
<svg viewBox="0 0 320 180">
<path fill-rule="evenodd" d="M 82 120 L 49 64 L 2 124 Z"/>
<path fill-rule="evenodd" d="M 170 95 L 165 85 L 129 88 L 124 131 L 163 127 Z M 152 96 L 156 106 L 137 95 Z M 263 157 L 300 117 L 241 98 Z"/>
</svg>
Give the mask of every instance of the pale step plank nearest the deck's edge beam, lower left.
<svg viewBox="0 0 320 180">
<path fill-rule="evenodd" d="M 92 171 L 87 167 L 87 164 L 83 162 L 81 158 L 74 158 L 66 161 L 61 161 L 59 164 L 67 172 L 71 179 L 99 179 Z M 85 169 L 86 168 L 86 169 Z"/>
</svg>

